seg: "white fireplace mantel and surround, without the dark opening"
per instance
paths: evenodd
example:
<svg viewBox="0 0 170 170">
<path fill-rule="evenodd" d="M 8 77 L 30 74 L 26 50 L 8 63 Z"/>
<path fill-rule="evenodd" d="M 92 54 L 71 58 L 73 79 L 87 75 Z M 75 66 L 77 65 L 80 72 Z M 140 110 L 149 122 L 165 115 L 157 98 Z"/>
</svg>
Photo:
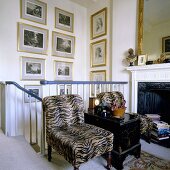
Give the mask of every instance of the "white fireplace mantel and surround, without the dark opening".
<svg viewBox="0 0 170 170">
<path fill-rule="evenodd" d="M 137 112 L 138 82 L 170 82 L 170 63 L 144 66 L 130 66 L 131 72 L 131 111 Z"/>
</svg>

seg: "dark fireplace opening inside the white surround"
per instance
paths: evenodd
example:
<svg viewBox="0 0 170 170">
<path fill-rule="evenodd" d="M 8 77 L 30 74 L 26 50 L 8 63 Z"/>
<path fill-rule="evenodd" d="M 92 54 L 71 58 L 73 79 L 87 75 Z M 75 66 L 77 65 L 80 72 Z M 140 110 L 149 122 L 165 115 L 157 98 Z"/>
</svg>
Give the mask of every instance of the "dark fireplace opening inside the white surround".
<svg viewBox="0 0 170 170">
<path fill-rule="evenodd" d="M 139 114 L 159 114 L 170 124 L 170 82 L 139 82 L 137 106 Z"/>
</svg>

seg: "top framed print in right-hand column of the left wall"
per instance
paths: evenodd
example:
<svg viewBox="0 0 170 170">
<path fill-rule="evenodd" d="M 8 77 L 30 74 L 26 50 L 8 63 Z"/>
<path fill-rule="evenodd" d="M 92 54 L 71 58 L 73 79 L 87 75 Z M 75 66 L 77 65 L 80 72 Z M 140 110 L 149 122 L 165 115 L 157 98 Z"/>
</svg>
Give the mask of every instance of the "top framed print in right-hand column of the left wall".
<svg viewBox="0 0 170 170">
<path fill-rule="evenodd" d="M 74 14 L 55 8 L 55 27 L 64 31 L 73 32 Z"/>
</svg>

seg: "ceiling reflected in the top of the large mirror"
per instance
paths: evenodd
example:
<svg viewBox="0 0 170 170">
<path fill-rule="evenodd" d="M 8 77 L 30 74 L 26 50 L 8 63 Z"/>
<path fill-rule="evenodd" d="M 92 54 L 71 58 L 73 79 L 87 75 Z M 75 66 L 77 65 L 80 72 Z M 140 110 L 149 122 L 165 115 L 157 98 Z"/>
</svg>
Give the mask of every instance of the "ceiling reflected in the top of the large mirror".
<svg viewBox="0 0 170 170">
<path fill-rule="evenodd" d="M 170 0 L 145 0 L 144 21 L 152 26 L 170 21 Z"/>
</svg>

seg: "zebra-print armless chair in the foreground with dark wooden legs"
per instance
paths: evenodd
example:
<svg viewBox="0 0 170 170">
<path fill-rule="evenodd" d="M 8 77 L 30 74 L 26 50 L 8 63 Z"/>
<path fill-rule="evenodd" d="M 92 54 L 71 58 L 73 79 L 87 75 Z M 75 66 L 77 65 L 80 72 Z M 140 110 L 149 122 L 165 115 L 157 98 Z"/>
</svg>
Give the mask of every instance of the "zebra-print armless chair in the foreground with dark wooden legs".
<svg viewBox="0 0 170 170">
<path fill-rule="evenodd" d="M 53 148 L 78 170 L 89 159 L 108 153 L 107 169 L 110 169 L 113 134 L 84 123 L 84 104 L 79 95 L 49 96 L 42 103 L 49 161 Z"/>
</svg>

